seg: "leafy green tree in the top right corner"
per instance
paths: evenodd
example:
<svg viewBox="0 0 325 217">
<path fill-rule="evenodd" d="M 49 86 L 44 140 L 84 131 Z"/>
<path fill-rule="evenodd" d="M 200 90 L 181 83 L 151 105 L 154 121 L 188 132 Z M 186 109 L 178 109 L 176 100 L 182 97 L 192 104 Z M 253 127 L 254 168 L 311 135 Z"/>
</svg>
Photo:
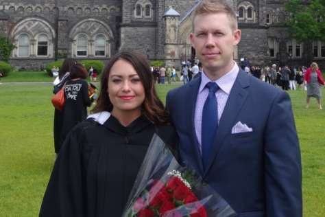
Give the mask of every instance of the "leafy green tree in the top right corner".
<svg viewBox="0 0 325 217">
<path fill-rule="evenodd" d="M 285 4 L 289 34 L 298 42 L 325 41 L 325 0 L 290 0 Z"/>
</svg>

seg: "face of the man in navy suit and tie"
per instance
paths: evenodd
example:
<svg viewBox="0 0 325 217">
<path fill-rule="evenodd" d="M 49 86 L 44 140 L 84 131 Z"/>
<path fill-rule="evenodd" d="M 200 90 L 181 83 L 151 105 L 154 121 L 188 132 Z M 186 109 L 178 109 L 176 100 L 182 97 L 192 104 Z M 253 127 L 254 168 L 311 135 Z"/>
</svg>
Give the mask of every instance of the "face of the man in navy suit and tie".
<svg viewBox="0 0 325 217">
<path fill-rule="evenodd" d="M 226 13 L 195 16 L 190 39 L 208 77 L 211 73 L 222 76 L 231 70 L 234 45 L 240 38 L 241 31 L 232 29 Z"/>
</svg>

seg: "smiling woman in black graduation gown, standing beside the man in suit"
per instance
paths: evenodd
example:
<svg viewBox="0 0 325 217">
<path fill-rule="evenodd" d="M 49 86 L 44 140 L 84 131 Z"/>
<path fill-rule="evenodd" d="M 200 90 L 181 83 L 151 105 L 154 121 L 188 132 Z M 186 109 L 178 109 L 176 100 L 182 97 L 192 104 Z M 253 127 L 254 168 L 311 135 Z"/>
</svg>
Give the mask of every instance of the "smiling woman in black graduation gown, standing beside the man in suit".
<svg viewBox="0 0 325 217">
<path fill-rule="evenodd" d="M 147 59 L 116 54 L 104 69 L 93 114 L 64 141 L 39 216 L 121 216 L 154 133 L 176 150 Z"/>
</svg>

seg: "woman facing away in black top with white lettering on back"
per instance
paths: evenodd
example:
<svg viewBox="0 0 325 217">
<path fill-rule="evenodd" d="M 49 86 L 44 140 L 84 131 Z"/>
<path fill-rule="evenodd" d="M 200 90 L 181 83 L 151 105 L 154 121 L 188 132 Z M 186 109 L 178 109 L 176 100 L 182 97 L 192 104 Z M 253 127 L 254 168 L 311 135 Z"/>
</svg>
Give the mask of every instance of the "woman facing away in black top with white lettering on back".
<svg viewBox="0 0 325 217">
<path fill-rule="evenodd" d="M 87 106 L 91 106 L 88 96 L 88 82 L 84 80 L 88 72 L 83 65 L 77 63 L 71 67 L 70 80 L 64 84 L 65 104 L 61 132 L 61 144 L 73 126 L 87 117 Z"/>
</svg>

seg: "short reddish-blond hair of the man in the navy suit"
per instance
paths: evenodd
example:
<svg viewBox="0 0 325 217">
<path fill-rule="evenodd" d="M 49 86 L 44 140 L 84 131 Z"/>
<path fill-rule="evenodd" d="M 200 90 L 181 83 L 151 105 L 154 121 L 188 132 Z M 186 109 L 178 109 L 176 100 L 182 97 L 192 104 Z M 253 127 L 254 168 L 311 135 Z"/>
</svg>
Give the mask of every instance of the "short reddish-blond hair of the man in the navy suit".
<svg viewBox="0 0 325 217">
<path fill-rule="evenodd" d="M 217 13 L 226 13 L 230 19 L 230 27 L 232 30 L 237 30 L 237 15 L 234 10 L 226 3 L 224 0 L 203 0 L 194 10 L 193 15 L 193 31 L 194 31 L 194 20 L 197 15 L 202 14 L 217 14 Z"/>
</svg>

